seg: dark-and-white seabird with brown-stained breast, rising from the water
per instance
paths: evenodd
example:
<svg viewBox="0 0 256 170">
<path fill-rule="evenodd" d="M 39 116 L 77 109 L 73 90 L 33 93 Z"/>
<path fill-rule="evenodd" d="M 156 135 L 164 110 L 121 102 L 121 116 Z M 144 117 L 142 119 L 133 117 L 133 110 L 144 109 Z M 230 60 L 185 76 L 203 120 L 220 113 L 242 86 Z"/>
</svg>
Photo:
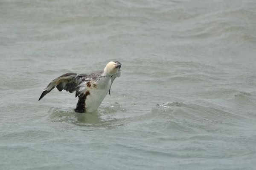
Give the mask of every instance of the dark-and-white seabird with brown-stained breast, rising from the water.
<svg viewBox="0 0 256 170">
<path fill-rule="evenodd" d="M 52 80 L 44 89 L 38 101 L 55 87 L 58 91 L 63 89 L 67 92 L 76 92 L 78 102 L 75 112 L 95 112 L 109 93 L 113 81 L 121 76 L 121 63 L 119 61 L 109 62 L 103 71 L 92 72 L 90 75 L 66 73 Z"/>
</svg>

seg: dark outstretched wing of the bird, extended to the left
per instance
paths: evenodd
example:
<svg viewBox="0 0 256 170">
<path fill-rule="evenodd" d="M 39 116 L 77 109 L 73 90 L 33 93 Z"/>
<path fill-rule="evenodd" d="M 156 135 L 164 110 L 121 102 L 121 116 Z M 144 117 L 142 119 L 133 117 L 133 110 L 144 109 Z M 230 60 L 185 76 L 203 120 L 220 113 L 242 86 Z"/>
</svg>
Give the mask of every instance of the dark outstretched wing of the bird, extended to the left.
<svg viewBox="0 0 256 170">
<path fill-rule="evenodd" d="M 43 93 L 41 94 L 38 101 L 41 100 L 47 93 L 52 91 L 55 87 L 57 87 L 58 91 L 62 91 L 63 89 L 67 92 L 74 92 L 76 91 L 77 86 L 80 84 L 81 79 L 86 77 L 87 75 L 79 75 L 76 73 L 67 73 L 61 75 L 58 78 L 55 78 L 53 81 L 49 83 L 49 85 L 44 89 Z"/>
</svg>

